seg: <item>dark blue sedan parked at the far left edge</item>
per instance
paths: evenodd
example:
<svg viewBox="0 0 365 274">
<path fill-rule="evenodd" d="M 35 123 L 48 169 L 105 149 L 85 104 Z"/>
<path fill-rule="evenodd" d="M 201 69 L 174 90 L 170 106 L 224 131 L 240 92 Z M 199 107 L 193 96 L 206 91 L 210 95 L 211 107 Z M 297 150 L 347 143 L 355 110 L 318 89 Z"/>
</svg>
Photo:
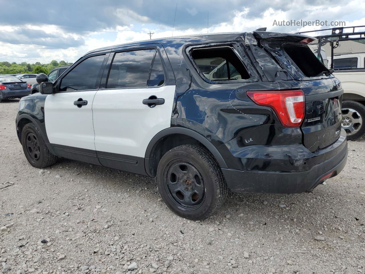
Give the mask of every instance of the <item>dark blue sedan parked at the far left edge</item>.
<svg viewBox="0 0 365 274">
<path fill-rule="evenodd" d="M 30 84 L 15 76 L 0 75 L 0 102 L 3 99 L 22 98 L 30 94 Z"/>
</svg>

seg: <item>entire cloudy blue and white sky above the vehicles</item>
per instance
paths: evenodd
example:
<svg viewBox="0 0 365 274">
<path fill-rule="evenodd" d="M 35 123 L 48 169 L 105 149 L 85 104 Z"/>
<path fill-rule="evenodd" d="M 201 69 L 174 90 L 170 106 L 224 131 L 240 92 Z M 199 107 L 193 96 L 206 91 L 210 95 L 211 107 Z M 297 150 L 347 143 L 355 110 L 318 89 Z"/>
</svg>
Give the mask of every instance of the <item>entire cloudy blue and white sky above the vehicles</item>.
<svg viewBox="0 0 365 274">
<path fill-rule="evenodd" d="M 149 39 L 149 31 L 154 32 L 152 38 L 162 38 L 258 27 L 280 32 L 329 28 L 273 26 L 274 20 L 300 19 L 365 25 L 363 0 L 0 0 L 0 4 L 0 61 L 18 63 L 74 62 L 92 49 Z"/>
</svg>

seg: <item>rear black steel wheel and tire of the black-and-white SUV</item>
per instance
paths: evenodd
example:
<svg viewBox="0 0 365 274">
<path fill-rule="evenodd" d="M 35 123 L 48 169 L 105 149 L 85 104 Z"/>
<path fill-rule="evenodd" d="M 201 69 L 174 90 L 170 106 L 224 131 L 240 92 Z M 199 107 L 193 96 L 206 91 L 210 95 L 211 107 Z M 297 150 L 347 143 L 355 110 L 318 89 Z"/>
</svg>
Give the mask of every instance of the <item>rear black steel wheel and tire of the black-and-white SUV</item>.
<svg viewBox="0 0 365 274">
<path fill-rule="evenodd" d="M 227 195 L 217 161 L 200 145 L 181 145 L 166 152 L 158 164 L 156 180 L 166 205 L 191 220 L 208 217 Z"/>
</svg>

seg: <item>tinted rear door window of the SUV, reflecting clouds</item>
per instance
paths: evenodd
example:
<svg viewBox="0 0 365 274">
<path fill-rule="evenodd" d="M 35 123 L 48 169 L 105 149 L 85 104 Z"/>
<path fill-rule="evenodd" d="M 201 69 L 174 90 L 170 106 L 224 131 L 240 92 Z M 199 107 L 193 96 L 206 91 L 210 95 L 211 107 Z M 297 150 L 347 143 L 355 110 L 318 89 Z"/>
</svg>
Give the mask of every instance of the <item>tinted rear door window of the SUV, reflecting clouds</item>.
<svg viewBox="0 0 365 274">
<path fill-rule="evenodd" d="M 116 53 L 107 88 L 146 87 L 155 51 L 147 49 Z"/>
</svg>

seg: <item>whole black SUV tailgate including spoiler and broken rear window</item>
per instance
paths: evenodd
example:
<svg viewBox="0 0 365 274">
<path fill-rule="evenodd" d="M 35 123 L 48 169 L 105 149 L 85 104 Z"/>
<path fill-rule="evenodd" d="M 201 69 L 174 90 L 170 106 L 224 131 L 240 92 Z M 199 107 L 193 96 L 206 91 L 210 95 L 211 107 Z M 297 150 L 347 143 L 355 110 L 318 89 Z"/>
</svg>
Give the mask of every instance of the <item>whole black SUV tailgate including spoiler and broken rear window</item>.
<svg viewBox="0 0 365 274">
<path fill-rule="evenodd" d="M 308 47 L 307 43 L 315 38 L 258 31 L 254 35 L 291 75 L 290 81 L 294 80 L 304 92 L 303 145 L 314 152 L 333 144 L 341 135 L 343 90 L 340 82 Z"/>
</svg>

